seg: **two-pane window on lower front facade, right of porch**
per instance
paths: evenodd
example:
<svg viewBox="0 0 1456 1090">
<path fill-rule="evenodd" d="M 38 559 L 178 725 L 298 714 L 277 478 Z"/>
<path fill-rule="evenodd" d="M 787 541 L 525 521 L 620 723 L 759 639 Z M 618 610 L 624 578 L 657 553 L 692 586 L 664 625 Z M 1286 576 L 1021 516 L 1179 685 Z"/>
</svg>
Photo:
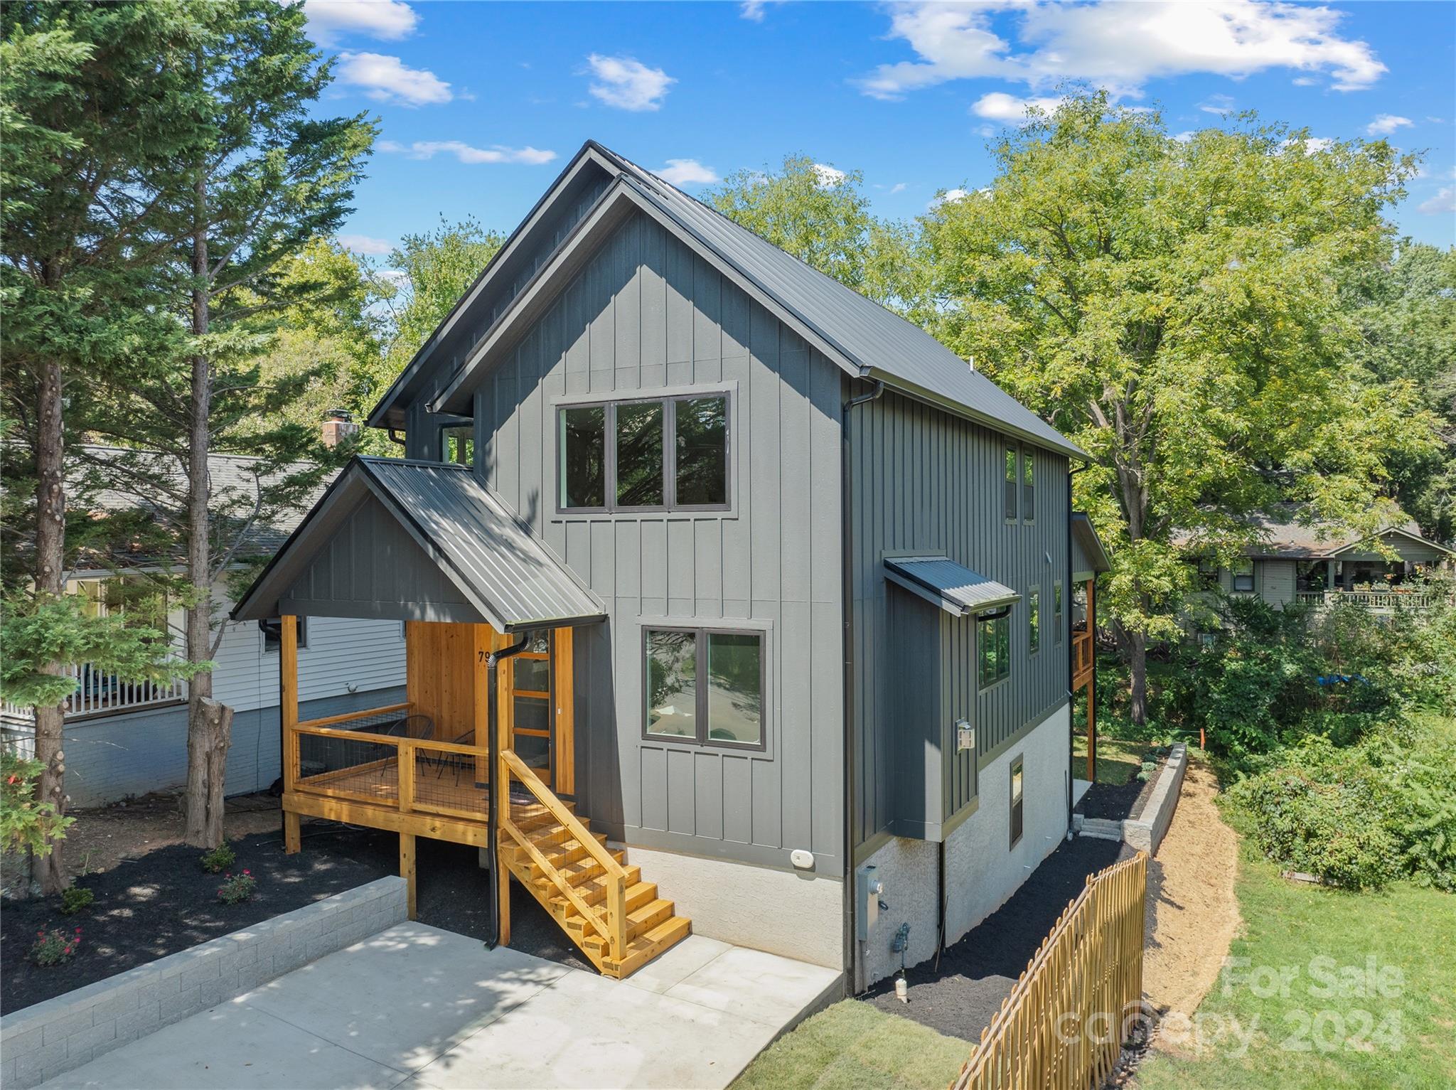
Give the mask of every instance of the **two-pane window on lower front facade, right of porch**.
<svg viewBox="0 0 1456 1090">
<path fill-rule="evenodd" d="M 763 633 L 645 629 L 648 738 L 763 748 Z"/>
</svg>

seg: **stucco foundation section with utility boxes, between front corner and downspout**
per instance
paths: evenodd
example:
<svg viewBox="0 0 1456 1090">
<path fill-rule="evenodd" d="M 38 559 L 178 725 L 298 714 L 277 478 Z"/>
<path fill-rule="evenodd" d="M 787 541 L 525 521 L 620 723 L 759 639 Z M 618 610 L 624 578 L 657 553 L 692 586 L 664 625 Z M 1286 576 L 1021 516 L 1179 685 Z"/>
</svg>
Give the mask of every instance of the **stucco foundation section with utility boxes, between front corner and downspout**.
<svg viewBox="0 0 1456 1090">
<path fill-rule="evenodd" d="M 941 853 L 933 841 L 895 837 L 866 859 L 860 867 L 863 866 L 875 867 L 875 878 L 885 888 L 879 899 L 888 907 L 879 910 L 879 917 L 868 926 L 866 939 L 859 943 L 856 991 L 885 979 L 900 968 L 900 955 L 891 949 L 891 943 L 901 924 L 910 924 L 904 963 L 916 965 L 933 956 L 941 920 L 936 910 Z M 856 867 L 856 873 L 860 867 Z"/>
</svg>

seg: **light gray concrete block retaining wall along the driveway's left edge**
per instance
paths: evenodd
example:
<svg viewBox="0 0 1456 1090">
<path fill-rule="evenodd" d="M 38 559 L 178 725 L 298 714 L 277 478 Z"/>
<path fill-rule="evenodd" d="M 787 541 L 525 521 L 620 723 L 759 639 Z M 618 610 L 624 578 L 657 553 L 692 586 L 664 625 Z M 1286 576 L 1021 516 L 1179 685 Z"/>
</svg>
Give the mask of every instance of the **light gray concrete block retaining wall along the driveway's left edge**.
<svg viewBox="0 0 1456 1090">
<path fill-rule="evenodd" d="M 28 1087 L 406 920 L 381 878 L 0 1017 L 0 1086 Z"/>
</svg>

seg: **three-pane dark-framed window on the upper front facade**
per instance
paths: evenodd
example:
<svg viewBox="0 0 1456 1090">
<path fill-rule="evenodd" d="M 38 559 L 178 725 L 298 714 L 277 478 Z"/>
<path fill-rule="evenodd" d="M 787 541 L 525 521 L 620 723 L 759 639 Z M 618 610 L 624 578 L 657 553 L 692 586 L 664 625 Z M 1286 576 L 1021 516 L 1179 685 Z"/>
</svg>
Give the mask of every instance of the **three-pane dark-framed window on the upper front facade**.
<svg viewBox="0 0 1456 1090">
<path fill-rule="evenodd" d="M 559 410 L 562 511 L 728 505 L 728 396 Z"/>
</svg>

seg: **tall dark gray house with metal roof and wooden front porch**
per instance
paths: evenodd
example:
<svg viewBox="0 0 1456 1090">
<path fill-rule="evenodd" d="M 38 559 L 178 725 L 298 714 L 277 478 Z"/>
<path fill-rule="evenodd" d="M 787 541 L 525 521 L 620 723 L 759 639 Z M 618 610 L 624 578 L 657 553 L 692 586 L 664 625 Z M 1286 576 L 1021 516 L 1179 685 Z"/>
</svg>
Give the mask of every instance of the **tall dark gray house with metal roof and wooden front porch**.
<svg viewBox="0 0 1456 1090">
<path fill-rule="evenodd" d="M 368 423 L 406 457 L 234 611 L 406 621 L 403 704 L 285 697 L 290 847 L 496 847 L 603 972 L 690 920 L 863 987 L 1066 835 L 1083 454 L 919 327 L 588 143 Z"/>
</svg>

